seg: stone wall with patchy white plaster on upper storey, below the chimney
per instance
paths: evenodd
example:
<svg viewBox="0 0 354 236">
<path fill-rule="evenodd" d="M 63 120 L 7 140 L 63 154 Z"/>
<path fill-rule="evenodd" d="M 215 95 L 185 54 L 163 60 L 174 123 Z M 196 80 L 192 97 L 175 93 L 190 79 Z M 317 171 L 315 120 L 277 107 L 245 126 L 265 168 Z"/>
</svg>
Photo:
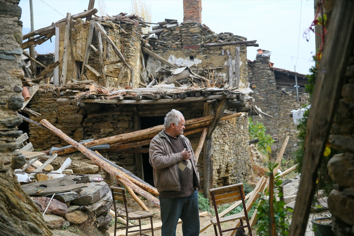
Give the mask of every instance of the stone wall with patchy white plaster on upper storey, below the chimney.
<svg viewBox="0 0 354 236">
<path fill-rule="evenodd" d="M 213 46 L 204 47 L 202 44 L 214 42 L 218 39 L 218 35 L 205 25 L 198 23 L 184 23 L 177 27 L 171 27 L 165 30 L 159 36 L 155 36 L 158 40 L 164 43 L 149 41 L 149 44 L 154 48 L 154 52 L 171 63 L 178 66 L 188 66 L 196 73 L 200 73 L 204 69 L 213 67 L 223 67 L 216 69 L 214 81 L 228 80 L 228 55 L 227 50 L 232 55 L 232 66 L 235 71 L 235 55 L 236 46 Z M 246 38 L 242 37 L 246 40 Z M 216 40 L 217 41 L 217 40 Z M 247 87 L 247 50 L 245 45 L 240 47 L 240 88 Z M 191 59 L 193 57 L 193 59 Z M 148 76 L 159 76 L 158 71 L 165 65 L 156 59 L 148 56 L 147 71 Z M 211 78 L 212 80 L 212 78 Z"/>
</svg>

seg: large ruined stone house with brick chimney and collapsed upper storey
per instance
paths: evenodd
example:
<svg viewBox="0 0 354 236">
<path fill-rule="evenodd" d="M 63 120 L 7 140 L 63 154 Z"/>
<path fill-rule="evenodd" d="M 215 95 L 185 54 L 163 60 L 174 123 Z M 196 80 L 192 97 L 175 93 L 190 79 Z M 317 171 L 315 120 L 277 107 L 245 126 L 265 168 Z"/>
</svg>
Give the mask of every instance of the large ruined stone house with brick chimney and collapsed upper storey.
<svg viewBox="0 0 354 236">
<path fill-rule="evenodd" d="M 142 34 L 142 27 L 146 24 L 134 14 L 93 17 L 91 22 L 75 18 L 70 23 L 66 52 L 65 28 L 68 27 L 65 21 L 57 23 L 53 29 L 59 33 L 56 37 L 58 50 L 51 57 L 52 62 L 58 60 L 60 64 L 53 71 L 51 81 L 54 85 L 42 85 L 35 93 L 27 107 L 41 116 L 29 115 L 29 118 L 34 121 L 47 119 L 69 137 L 79 141 L 161 125 L 165 114 L 171 109 L 180 110 L 186 120 L 212 115 L 222 99 L 230 99 L 224 112 L 244 113 L 240 117 L 219 122 L 210 142 L 210 166 L 204 168 L 206 157 L 203 156 L 203 150 L 197 166 L 201 185 L 204 186 L 205 175 L 211 182 L 208 188 L 246 181 L 251 174 L 246 113 L 250 110 L 246 104 L 252 100 L 248 96 L 252 91 L 247 88 L 246 50 L 247 46 L 258 45 L 255 40 L 247 41 L 232 33 L 218 35 L 201 24 L 200 0 L 185 0 L 183 6 L 183 23 L 165 19 L 147 35 Z M 109 39 L 104 38 L 104 32 L 97 31 L 97 25 L 92 25 L 94 22 L 101 25 L 123 59 L 116 53 L 112 43 L 108 42 Z M 102 44 L 97 32 L 101 34 Z M 89 44 L 88 40 L 91 40 Z M 98 52 L 100 45 L 102 52 Z M 66 62 L 63 60 L 65 53 Z M 40 55 L 37 58 L 48 57 Z M 63 74 L 64 64 L 67 64 L 66 74 Z M 176 70 L 180 73 L 173 74 Z M 104 87 L 96 86 L 92 93 L 87 92 L 87 88 L 93 85 L 65 87 L 70 79 L 74 82 L 91 80 Z M 64 87 L 55 86 L 59 84 Z M 150 89 L 139 88 L 154 84 Z M 111 98 L 108 94 L 95 92 L 113 87 L 116 89 L 111 93 L 120 96 Z M 201 92 L 198 89 L 191 90 L 192 87 L 199 87 Z M 158 92 L 153 93 L 151 90 Z M 54 134 L 32 124 L 29 124 L 28 130 L 29 141 L 35 149 L 47 150 L 53 146 L 67 145 Z M 187 136 L 194 150 L 200 136 L 201 132 Z M 142 146 L 140 151 L 129 148 L 98 151 L 153 184 L 148 145 Z M 77 160 L 76 166 L 72 167 L 74 172 L 100 173 L 109 184 L 114 183 L 107 173 L 84 156 L 72 157 Z M 58 158 L 55 165 L 59 166 L 62 159 L 65 160 L 64 157 Z"/>
</svg>

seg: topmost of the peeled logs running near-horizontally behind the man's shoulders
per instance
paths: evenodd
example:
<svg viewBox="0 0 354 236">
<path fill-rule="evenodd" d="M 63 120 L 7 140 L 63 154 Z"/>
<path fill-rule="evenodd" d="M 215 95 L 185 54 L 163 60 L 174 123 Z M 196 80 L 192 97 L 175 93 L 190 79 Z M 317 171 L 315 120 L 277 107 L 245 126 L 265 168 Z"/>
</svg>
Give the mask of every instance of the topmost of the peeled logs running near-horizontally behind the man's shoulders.
<svg viewBox="0 0 354 236">
<path fill-rule="evenodd" d="M 231 114 L 231 115 L 226 115 L 221 117 L 220 120 L 226 120 L 226 119 L 231 119 L 233 117 L 236 116 L 240 116 L 241 113 L 236 113 L 236 114 Z M 187 120 L 186 121 L 186 126 L 187 127 L 192 127 L 196 121 L 200 122 L 201 124 L 199 124 L 199 126 L 204 126 L 201 121 L 206 121 L 207 122 L 211 122 L 211 120 L 213 119 L 214 116 L 206 116 L 206 117 L 201 117 L 201 118 L 196 118 L 196 119 L 192 119 L 192 120 Z M 204 118 L 204 119 L 202 119 Z M 192 123 L 192 125 L 189 125 L 189 123 Z M 198 125 L 194 126 L 194 127 L 198 127 Z M 158 125 L 155 127 L 151 127 L 148 129 L 141 129 L 138 131 L 134 131 L 131 133 L 125 133 L 125 134 L 119 134 L 116 136 L 112 136 L 112 137 L 107 137 L 107 138 L 101 138 L 101 139 L 97 139 L 97 140 L 93 140 L 90 142 L 86 142 L 86 143 L 82 143 L 82 145 L 86 146 L 86 147 L 92 147 L 92 146 L 96 146 L 96 145 L 100 145 L 100 144 L 113 144 L 113 143 L 119 143 L 119 142 L 132 142 L 135 140 L 146 140 L 149 139 L 151 137 L 154 137 L 156 134 L 158 134 L 160 131 L 162 131 L 164 129 L 163 125 Z M 67 154 L 67 153 L 72 153 L 76 151 L 76 148 L 74 147 L 68 147 L 68 148 L 64 148 L 64 149 L 60 149 L 60 150 L 56 150 L 53 151 L 53 153 L 57 153 L 58 155 L 63 155 L 63 154 Z"/>
</svg>

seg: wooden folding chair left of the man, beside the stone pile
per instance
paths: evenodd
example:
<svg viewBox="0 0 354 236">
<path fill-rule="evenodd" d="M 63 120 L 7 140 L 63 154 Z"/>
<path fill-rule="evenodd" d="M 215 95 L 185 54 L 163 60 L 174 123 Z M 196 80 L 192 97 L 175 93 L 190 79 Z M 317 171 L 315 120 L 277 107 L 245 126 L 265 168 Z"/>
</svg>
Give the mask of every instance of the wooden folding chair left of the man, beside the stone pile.
<svg viewBox="0 0 354 236">
<path fill-rule="evenodd" d="M 124 188 L 117 188 L 117 187 L 110 187 L 111 191 L 112 191 L 112 197 L 113 197 L 113 206 L 114 206 L 114 213 L 115 213 L 115 218 L 114 218 L 114 236 L 116 236 L 116 231 L 117 229 L 126 229 L 125 230 L 125 235 L 127 236 L 128 233 L 131 232 L 139 232 L 140 236 L 144 235 L 144 236 L 149 236 L 147 234 L 143 234 L 142 231 L 146 231 L 146 230 L 151 230 L 151 234 L 152 236 L 154 236 L 154 227 L 153 227 L 153 213 L 149 213 L 147 211 L 137 211 L 137 212 L 130 212 L 128 213 L 128 208 L 127 208 L 127 194 L 126 194 L 126 190 Z M 117 208 L 115 206 L 115 201 L 121 201 L 124 202 L 124 207 L 125 207 L 125 214 L 120 214 L 117 213 Z M 122 223 L 120 221 L 118 221 L 117 217 L 125 217 L 127 218 L 127 223 Z M 151 228 L 149 229 L 141 229 L 141 219 L 145 219 L 145 218 L 150 218 L 150 224 L 151 224 Z M 129 220 L 139 220 L 139 225 L 129 225 Z M 117 228 L 117 223 L 122 224 L 124 226 L 122 227 L 118 227 Z M 138 230 L 131 230 L 128 231 L 129 228 L 131 227 L 136 227 L 139 226 Z"/>
</svg>

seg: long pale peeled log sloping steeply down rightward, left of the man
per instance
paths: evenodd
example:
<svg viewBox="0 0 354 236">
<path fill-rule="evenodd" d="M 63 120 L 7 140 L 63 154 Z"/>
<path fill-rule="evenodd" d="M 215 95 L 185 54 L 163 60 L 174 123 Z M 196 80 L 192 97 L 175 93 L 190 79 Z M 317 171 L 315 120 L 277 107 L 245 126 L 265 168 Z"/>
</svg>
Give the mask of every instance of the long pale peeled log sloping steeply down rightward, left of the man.
<svg viewBox="0 0 354 236">
<path fill-rule="evenodd" d="M 148 201 L 154 203 L 156 206 L 160 206 L 160 201 L 154 197 L 153 195 L 149 194 L 147 191 L 139 188 L 137 185 L 133 184 L 128 178 L 126 178 L 124 175 L 122 175 L 117 168 L 114 168 L 110 163 L 108 163 L 107 159 L 104 159 L 104 157 L 96 154 L 94 151 L 86 148 L 82 144 L 76 142 L 74 139 L 68 137 L 66 134 L 64 134 L 60 129 L 54 127 L 51 123 L 49 123 L 46 119 L 43 119 L 40 121 L 42 125 L 50 129 L 53 133 L 55 133 L 57 136 L 61 137 L 65 142 L 73 145 L 76 149 L 78 149 L 82 154 L 87 156 L 90 160 L 96 163 L 96 165 L 102 167 L 105 171 L 107 171 L 109 174 L 113 175 L 114 177 L 118 178 L 122 184 L 125 186 L 129 186 L 132 188 L 135 192 L 138 194 L 142 195 L 145 197 Z M 143 207 L 143 206 L 142 206 Z M 145 206 L 146 207 L 146 206 Z"/>
</svg>

